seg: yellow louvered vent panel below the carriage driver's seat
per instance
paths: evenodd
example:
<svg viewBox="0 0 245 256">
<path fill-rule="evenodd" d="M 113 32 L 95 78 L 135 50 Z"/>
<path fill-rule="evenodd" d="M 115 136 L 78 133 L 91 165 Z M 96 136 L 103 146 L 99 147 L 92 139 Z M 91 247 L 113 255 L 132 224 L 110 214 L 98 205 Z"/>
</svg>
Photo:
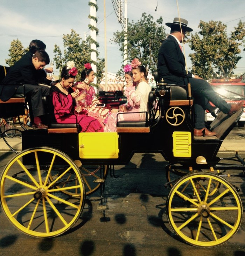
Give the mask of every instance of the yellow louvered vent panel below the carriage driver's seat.
<svg viewBox="0 0 245 256">
<path fill-rule="evenodd" d="M 191 133 L 173 133 L 173 153 L 174 157 L 191 157 Z"/>
</svg>

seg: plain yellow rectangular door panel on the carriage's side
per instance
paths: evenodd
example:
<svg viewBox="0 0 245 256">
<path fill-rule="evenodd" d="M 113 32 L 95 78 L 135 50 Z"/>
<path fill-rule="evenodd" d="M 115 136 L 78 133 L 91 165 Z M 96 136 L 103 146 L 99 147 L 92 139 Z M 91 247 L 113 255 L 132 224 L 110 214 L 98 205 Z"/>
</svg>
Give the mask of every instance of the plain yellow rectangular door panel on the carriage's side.
<svg viewBox="0 0 245 256">
<path fill-rule="evenodd" d="M 80 132 L 80 158 L 118 158 L 117 132 Z"/>
</svg>

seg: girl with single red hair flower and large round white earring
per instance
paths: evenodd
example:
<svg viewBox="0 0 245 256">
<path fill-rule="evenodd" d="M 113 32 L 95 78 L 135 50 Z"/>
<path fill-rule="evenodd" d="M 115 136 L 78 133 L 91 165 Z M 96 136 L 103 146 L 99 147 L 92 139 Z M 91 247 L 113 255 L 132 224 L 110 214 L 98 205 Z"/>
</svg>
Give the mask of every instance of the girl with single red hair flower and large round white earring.
<svg viewBox="0 0 245 256">
<path fill-rule="evenodd" d="M 84 67 L 85 69 L 81 73 L 82 81 L 76 83 L 73 90 L 79 90 L 78 104 L 87 110 L 87 115 L 96 118 L 104 127 L 109 116 L 109 110 L 101 106 L 96 106 L 100 102 L 95 96 L 94 88 L 90 85 L 95 78 L 94 71 L 90 63 L 84 64 Z"/>
</svg>

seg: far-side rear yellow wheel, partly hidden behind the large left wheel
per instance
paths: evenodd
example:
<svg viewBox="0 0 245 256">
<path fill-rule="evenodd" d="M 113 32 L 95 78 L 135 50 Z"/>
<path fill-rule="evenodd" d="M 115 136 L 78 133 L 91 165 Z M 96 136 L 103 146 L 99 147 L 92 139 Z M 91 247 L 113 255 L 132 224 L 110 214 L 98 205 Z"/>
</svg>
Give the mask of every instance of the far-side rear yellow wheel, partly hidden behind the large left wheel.
<svg viewBox="0 0 245 256">
<path fill-rule="evenodd" d="M 100 186 L 103 186 L 103 183 L 101 182 L 96 182 L 96 181 L 100 181 L 100 175 L 102 176 L 103 179 L 106 178 L 107 176 L 107 172 L 108 172 L 108 166 L 107 165 L 82 165 L 82 163 L 80 162 L 80 160 L 75 160 L 74 161 L 76 163 L 76 165 L 78 167 L 80 167 L 80 172 L 82 173 L 82 177 L 83 177 L 83 181 L 84 181 L 84 186 L 85 186 L 85 190 L 86 190 L 86 195 L 89 195 L 95 191 L 97 191 L 99 189 Z M 54 181 L 62 172 L 62 169 L 56 169 L 56 173 L 55 171 L 53 172 L 53 174 L 49 175 L 49 179 L 50 181 Z M 101 174 L 100 174 L 101 172 Z M 67 180 L 65 180 L 66 182 L 69 180 L 73 180 L 73 182 L 77 182 L 75 180 L 74 177 L 74 173 L 70 173 L 70 175 L 67 178 Z M 73 197 L 77 197 L 80 196 L 79 193 L 77 193 L 76 191 L 69 191 L 69 190 L 65 190 L 65 187 L 69 186 L 69 184 L 66 184 L 65 182 L 62 184 L 62 189 L 64 189 L 62 192 L 73 196 Z M 60 187 L 60 186 L 57 186 Z"/>
</svg>

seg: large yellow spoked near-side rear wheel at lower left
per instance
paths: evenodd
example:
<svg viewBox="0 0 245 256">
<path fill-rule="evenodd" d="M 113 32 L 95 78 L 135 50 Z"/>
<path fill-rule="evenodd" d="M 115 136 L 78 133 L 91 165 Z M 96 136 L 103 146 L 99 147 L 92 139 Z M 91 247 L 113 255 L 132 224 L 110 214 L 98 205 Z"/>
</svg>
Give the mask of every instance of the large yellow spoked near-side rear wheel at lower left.
<svg viewBox="0 0 245 256">
<path fill-rule="evenodd" d="M 50 182 L 49 175 L 57 168 L 63 168 L 63 172 Z M 75 181 L 67 179 L 70 175 Z M 0 182 L 3 212 L 16 228 L 30 236 L 60 235 L 82 213 L 85 200 L 82 175 L 68 155 L 54 148 L 20 152 L 8 162 Z M 70 198 L 62 193 L 63 184 L 66 191 L 76 192 L 79 197 Z"/>
</svg>

